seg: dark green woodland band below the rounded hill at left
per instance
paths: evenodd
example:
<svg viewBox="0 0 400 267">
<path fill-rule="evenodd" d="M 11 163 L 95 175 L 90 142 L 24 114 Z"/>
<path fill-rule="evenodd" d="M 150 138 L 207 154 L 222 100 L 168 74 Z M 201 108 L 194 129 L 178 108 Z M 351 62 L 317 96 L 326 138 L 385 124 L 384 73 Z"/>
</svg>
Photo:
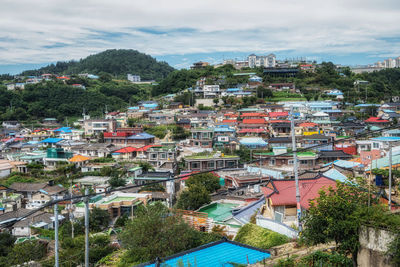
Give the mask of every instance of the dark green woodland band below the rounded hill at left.
<svg viewBox="0 0 400 267">
<path fill-rule="evenodd" d="M 22 91 L 0 88 L 0 120 L 36 120 L 81 116 L 83 109 L 91 116 L 120 110 L 129 103 L 149 97 L 149 89 L 129 82 L 88 81 L 85 89 L 50 81 L 27 85 Z M 107 107 L 106 107 L 107 106 Z"/>
</svg>

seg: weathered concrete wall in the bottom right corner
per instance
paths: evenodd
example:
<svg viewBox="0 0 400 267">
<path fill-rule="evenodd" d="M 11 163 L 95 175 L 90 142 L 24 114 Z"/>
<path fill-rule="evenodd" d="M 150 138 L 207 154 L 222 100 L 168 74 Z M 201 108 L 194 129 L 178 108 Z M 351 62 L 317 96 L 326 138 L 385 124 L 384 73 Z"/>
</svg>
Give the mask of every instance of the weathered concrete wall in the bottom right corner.
<svg viewBox="0 0 400 267">
<path fill-rule="evenodd" d="M 357 262 L 359 267 L 392 267 L 385 256 L 394 234 L 381 229 L 362 226 L 360 230 L 360 249 Z"/>
</svg>

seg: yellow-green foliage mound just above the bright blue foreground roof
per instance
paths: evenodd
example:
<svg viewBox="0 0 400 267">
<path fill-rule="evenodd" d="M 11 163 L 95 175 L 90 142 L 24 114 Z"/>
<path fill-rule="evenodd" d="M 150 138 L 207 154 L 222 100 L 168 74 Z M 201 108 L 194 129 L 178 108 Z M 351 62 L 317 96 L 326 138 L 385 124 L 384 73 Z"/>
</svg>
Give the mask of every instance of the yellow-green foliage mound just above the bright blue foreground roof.
<svg viewBox="0 0 400 267">
<path fill-rule="evenodd" d="M 235 237 L 235 241 L 262 249 L 268 249 L 289 242 L 289 238 L 249 223 L 240 228 Z"/>
</svg>

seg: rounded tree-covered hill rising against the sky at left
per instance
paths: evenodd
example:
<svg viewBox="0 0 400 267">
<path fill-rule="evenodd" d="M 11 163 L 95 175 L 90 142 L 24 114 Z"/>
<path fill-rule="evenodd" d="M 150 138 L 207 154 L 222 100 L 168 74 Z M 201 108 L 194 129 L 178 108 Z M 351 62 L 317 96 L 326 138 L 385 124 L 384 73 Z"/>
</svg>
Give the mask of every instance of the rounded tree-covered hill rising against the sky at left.
<svg viewBox="0 0 400 267">
<path fill-rule="evenodd" d="M 158 62 L 153 57 L 132 49 L 112 49 L 90 55 L 79 61 L 57 62 L 37 70 L 24 71 L 22 75 L 56 74 L 101 74 L 106 72 L 114 76 L 126 74 L 140 75 L 142 80 L 161 80 L 172 72 L 166 62 Z"/>
</svg>

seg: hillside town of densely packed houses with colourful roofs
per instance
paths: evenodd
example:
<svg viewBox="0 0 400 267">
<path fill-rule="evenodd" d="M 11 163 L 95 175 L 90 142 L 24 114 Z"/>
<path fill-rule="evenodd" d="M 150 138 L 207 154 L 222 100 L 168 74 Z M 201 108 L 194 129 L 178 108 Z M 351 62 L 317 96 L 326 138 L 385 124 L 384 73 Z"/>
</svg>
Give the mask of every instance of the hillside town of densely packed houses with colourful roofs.
<svg viewBox="0 0 400 267">
<path fill-rule="evenodd" d="M 291 244 L 295 250 L 302 232 L 311 229 L 304 218 L 312 214 L 321 190 L 356 188 L 368 192 L 371 203 L 393 216 L 398 214 L 399 99 L 351 103 L 341 88 L 321 88 L 319 97 L 306 99 L 296 82 L 287 82 L 287 78 L 316 72 L 320 65 L 315 62 L 279 63 L 273 54 L 252 54 L 245 62 L 227 60 L 212 68 L 225 65 L 236 69 L 233 76 L 240 77 L 240 83 L 227 85 L 223 76 L 203 76 L 185 90 L 126 108 L 108 110 L 105 105 L 100 116 L 91 116 L 90 110 L 80 107 L 82 115 L 74 121 L 51 117 L 34 124 L 4 120 L 0 231 L 10 233 L 16 244 L 39 240 L 54 253 L 58 249 L 53 244 L 56 228 L 58 233 L 58 227 L 64 227 L 63 234 L 73 238 L 74 227 L 79 228 L 74 225 L 84 221 L 87 208 L 90 218 L 102 218 L 90 224 L 99 224 L 93 231 L 110 236 L 107 247 L 115 255 L 127 238 L 118 235 L 122 231 L 123 236 L 126 220 L 139 218 L 143 206 L 162 203 L 196 232 L 224 236 L 218 246 L 248 250 L 237 252 L 251 255 L 247 264 L 262 260 L 265 264 L 271 258 L 268 266 L 275 266 L 274 258 L 296 252 L 260 250 L 252 241 L 243 245 L 241 231 L 250 225 L 258 227 L 260 235 L 262 231 L 277 235 L 280 241 L 273 246 Z M 192 69 L 208 67 L 198 62 Z M 272 82 L 268 80 L 271 75 L 275 77 Z M 101 78 L 93 74 L 79 77 Z M 284 82 L 276 82 L 280 77 Z M 84 84 L 67 83 L 70 79 L 76 77 L 57 73 L 18 76 L 5 86 L 8 91 L 21 91 L 31 84 L 59 83 L 88 90 Z M 158 85 L 136 74 L 127 74 L 125 79 Z M 360 84 L 368 81 L 354 83 L 360 99 L 367 100 Z M 72 226 L 72 232 L 66 225 Z M 380 231 L 367 224 L 363 227 L 367 235 Z M 391 266 L 374 265 L 388 262 L 381 248 L 389 241 L 360 235 L 360 247 L 351 251 L 352 256 L 358 253 L 358 266 Z M 374 242 L 380 245 L 371 245 Z M 204 253 L 218 253 L 214 245 L 211 251 L 203 249 Z M 329 249 L 339 247 L 338 243 L 331 245 Z M 233 257 L 228 254 L 223 257 Z M 150 265 L 156 259 L 150 260 L 148 265 L 140 260 L 134 263 L 160 266 L 157 262 Z M 164 260 L 171 266 L 179 264 L 179 257 Z M 351 264 L 351 258 L 347 260 Z M 216 266 L 208 264 L 204 266 Z"/>
</svg>

